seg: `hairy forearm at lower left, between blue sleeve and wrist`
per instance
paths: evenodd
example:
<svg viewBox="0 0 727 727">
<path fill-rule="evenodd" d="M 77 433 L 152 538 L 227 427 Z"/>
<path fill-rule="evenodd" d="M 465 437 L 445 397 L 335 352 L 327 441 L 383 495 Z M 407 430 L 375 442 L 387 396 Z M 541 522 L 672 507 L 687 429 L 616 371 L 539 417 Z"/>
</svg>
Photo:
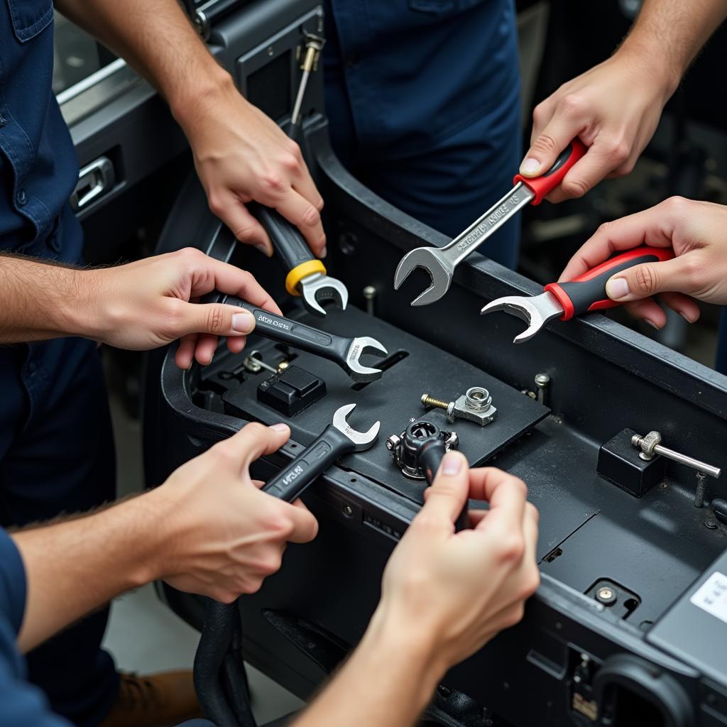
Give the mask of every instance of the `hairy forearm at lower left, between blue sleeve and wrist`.
<svg viewBox="0 0 727 727">
<path fill-rule="evenodd" d="M 18 644 L 29 651 L 119 593 L 158 577 L 159 523 L 150 494 L 74 520 L 12 534 L 28 595 Z"/>
</svg>

